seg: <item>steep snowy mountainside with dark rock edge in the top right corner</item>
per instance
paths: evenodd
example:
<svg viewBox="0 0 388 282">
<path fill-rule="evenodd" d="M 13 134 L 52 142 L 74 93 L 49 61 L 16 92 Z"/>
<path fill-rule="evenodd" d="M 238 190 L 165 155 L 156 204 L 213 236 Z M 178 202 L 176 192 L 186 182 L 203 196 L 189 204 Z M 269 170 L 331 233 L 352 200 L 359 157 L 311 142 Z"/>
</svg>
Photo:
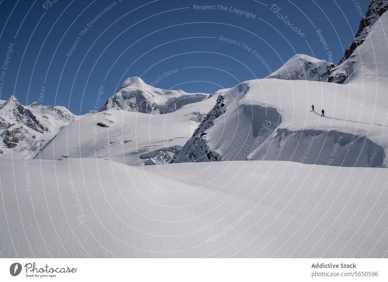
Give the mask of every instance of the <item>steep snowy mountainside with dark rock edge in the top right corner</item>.
<svg viewBox="0 0 388 282">
<path fill-rule="evenodd" d="M 340 64 L 331 71 L 329 82 L 377 81 L 388 78 L 388 0 L 372 0 L 361 20 L 356 37 Z"/>
</svg>

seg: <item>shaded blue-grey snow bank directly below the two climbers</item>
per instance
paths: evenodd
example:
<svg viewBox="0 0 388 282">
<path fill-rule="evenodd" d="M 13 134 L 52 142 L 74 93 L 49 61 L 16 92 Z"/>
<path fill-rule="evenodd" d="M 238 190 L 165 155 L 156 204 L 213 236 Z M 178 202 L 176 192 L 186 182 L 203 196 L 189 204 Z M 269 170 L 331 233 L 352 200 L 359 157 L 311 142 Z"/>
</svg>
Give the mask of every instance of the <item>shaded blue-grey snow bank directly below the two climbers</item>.
<svg viewBox="0 0 388 282">
<path fill-rule="evenodd" d="M 384 166 L 386 152 L 365 136 L 336 130 L 277 130 L 249 159 L 287 160 L 341 167 Z"/>
</svg>

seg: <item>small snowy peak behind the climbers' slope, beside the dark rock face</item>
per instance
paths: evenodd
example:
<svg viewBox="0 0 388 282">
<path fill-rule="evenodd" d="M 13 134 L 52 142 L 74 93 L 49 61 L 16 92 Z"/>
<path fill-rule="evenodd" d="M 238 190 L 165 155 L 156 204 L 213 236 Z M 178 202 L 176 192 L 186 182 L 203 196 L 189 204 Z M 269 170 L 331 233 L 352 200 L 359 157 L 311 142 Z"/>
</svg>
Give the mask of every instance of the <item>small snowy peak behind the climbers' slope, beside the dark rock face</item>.
<svg viewBox="0 0 388 282">
<path fill-rule="evenodd" d="M 296 54 L 266 78 L 327 81 L 330 70 L 334 67 L 334 63 L 304 54 Z"/>
</svg>

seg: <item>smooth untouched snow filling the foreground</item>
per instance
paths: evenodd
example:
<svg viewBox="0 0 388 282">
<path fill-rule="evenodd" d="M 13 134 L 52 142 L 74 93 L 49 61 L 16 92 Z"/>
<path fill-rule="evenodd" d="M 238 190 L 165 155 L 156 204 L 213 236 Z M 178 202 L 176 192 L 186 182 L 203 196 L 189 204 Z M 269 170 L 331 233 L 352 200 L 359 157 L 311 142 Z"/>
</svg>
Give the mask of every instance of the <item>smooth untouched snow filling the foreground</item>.
<svg viewBox="0 0 388 282">
<path fill-rule="evenodd" d="M 387 181 L 381 169 L 280 161 L 2 160 L 0 250 L 15 258 L 387 257 Z"/>
</svg>

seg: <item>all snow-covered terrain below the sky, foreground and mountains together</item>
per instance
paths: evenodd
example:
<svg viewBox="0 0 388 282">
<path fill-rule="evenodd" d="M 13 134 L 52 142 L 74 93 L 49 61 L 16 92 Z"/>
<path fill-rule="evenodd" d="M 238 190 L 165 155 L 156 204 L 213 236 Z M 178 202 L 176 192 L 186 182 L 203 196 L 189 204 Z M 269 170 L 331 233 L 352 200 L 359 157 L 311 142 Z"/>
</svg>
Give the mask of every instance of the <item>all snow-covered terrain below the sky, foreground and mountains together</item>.
<svg viewBox="0 0 388 282">
<path fill-rule="evenodd" d="M 82 116 L 0 100 L 0 256 L 388 258 L 387 10 L 338 66 L 213 94 L 132 77 Z"/>
</svg>

